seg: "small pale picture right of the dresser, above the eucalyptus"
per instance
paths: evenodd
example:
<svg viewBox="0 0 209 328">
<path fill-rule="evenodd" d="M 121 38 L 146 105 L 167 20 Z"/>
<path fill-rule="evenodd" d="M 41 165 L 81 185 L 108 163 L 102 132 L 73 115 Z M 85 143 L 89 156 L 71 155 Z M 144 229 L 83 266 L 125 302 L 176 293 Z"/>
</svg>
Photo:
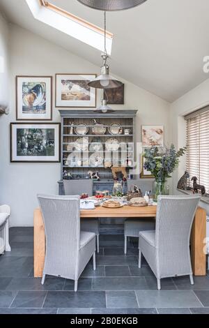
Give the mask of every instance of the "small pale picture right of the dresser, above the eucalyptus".
<svg viewBox="0 0 209 328">
<path fill-rule="evenodd" d="M 163 147 L 163 126 L 142 126 L 142 147 Z"/>
</svg>

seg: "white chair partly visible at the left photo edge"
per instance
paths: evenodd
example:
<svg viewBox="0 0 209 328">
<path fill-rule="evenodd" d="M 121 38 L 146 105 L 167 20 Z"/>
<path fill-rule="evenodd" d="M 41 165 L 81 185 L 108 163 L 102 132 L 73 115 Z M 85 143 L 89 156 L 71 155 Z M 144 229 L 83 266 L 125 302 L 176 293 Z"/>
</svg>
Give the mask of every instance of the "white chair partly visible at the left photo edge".
<svg viewBox="0 0 209 328">
<path fill-rule="evenodd" d="M 10 252 L 10 244 L 9 244 L 9 217 L 10 217 L 10 207 L 8 205 L 0 206 L 0 254 L 4 253 L 4 251 Z"/>
</svg>

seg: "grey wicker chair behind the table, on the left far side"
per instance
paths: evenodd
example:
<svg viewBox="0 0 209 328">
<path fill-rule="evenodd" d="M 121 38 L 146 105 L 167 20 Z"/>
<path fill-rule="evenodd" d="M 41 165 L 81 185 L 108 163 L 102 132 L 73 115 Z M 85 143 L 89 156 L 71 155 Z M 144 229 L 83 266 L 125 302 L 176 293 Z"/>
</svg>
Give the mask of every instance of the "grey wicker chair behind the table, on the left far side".
<svg viewBox="0 0 209 328">
<path fill-rule="evenodd" d="M 79 180 L 63 180 L 65 195 L 82 195 L 87 193 L 88 196 L 93 195 L 93 180 L 79 179 Z M 100 252 L 100 232 L 98 218 L 82 218 L 82 231 L 94 232 L 97 237 L 97 250 Z"/>
</svg>

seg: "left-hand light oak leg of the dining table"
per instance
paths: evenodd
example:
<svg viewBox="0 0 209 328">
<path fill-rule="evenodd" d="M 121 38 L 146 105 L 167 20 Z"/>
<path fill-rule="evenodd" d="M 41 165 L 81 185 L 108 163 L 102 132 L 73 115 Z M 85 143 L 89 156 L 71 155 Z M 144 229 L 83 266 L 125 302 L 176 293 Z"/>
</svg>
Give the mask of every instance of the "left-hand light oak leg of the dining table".
<svg viewBox="0 0 209 328">
<path fill-rule="evenodd" d="M 40 209 L 34 211 L 34 277 L 42 277 L 45 263 L 45 227 Z"/>
</svg>

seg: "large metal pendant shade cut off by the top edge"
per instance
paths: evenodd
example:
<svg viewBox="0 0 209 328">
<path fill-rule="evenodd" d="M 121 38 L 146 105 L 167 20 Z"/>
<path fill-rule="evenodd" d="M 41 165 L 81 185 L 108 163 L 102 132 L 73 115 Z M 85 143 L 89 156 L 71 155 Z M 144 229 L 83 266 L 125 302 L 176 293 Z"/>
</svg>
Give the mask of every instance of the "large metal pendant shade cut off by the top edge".
<svg viewBox="0 0 209 328">
<path fill-rule="evenodd" d="M 93 9 L 111 11 L 125 10 L 141 5 L 147 0 L 77 0 Z"/>
</svg>

